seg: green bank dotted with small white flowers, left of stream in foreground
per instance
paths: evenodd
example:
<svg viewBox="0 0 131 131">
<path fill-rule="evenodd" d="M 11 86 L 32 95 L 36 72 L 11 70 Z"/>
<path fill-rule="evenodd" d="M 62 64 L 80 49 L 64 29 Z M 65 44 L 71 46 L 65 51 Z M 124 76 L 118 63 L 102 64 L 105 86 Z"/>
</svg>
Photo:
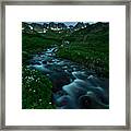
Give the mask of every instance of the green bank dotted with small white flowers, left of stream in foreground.
<svg viewBox="0 0 131 131">
<path fill-rule="evenodd" d="M 51 83 L 40 72 L 23 68 L 22 72 L 22 108 L 51 109 Z"/>
</svg>

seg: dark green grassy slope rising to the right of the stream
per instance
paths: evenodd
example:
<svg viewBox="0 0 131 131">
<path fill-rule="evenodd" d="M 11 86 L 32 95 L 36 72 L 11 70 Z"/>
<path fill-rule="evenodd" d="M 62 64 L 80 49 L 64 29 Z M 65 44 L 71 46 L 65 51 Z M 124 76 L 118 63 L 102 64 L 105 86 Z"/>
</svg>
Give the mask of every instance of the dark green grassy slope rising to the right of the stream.
<svg viewBox="0 0 131 131">
<path fill-rule="evenodd" d="M 66 40 L 69 46 L 59 48 L 57 56 L 94 70 L 98 76 L 109 78 L 109 26 L 97 23 L 95 26 L 73 32 Z"/>
</svg>

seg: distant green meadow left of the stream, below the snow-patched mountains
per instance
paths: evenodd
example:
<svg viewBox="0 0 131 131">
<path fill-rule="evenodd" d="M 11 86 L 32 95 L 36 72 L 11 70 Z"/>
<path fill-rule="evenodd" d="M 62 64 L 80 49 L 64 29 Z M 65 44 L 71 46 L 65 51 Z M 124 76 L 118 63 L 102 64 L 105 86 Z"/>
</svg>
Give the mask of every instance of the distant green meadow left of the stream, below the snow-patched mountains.
<svg viewBox="0 0 131 131">
<path fill-rule="evenodd" d="M 32 55 L 35 55 L 44 49 L 50 47 L 52 44 L 59 45 L 61 40 L 55 38 L 46 38 L 38 33 L 22 34 L 22 59 L 23 64 L 28 64 Z"/>
</svg>

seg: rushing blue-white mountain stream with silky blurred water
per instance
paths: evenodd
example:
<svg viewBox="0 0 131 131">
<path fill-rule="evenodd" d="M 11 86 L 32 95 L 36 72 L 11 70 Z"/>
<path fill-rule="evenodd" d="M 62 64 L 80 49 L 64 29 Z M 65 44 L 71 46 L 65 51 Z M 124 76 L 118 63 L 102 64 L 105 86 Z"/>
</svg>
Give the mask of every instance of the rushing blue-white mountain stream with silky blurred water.
<svg viewBox="0 0 131 131">
<path fill-rule="evenodd" d="M 52 103 L 58 109 L 108 109 L 109 81 L 67 59 L 56 57 L 58 47 L 33 56 L 29 68 L 52 82 Z"/>
</svg>

